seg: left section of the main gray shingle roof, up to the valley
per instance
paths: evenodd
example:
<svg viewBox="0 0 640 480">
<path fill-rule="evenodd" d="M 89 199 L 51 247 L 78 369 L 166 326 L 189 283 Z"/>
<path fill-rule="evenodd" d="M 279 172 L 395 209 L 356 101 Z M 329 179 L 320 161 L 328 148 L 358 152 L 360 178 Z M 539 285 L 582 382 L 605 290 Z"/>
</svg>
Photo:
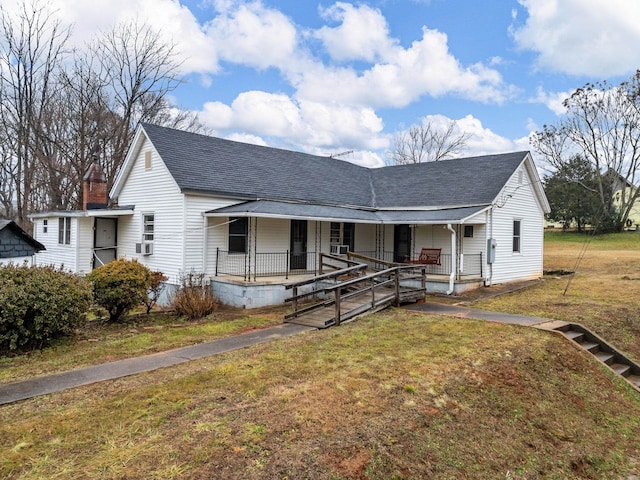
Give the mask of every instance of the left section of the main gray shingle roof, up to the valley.
<svg viewBox="0 0 640 480">
<path fill-rule="evenodd" d="M 183 191 L 369 205 L 369 169 L 155 125 L 145 132 Z"/>
</svg>

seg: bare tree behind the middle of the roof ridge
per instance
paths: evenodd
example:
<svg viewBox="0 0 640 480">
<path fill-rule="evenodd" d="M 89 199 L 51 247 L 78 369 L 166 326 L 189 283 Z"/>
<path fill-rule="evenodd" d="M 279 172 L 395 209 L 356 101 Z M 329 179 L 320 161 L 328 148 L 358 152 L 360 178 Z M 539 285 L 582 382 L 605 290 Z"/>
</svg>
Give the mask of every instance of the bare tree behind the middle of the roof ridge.
<svg viewBox="0 0 640 480">
<path fill-rule="evenodd" d="M 414 125 L 395 136 L 387 158 L 396 165 L 446 160 L 460 154 L 468 139 L 469 134 L 456 133 L 453 121 L 445 129 L 438 129 L 431 122 Z"/>
</svg>

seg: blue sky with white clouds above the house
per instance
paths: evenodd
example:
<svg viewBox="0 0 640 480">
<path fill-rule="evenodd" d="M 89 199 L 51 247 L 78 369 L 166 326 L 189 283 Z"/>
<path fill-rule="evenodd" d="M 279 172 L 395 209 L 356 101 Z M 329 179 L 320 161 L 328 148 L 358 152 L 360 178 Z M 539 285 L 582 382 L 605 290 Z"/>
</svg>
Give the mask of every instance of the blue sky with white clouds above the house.
<svg viewBox="0 0 640 480">
<path fill-rule="evenodd" d="M 586 82 L 640 68 L 636 0 L 51 0 L 74 42 L 137 17 L 176 43 L 173 92 L 214 134 L 381 165 L 411 125 L 468 155 L 528 150 Z"/>
</svg>

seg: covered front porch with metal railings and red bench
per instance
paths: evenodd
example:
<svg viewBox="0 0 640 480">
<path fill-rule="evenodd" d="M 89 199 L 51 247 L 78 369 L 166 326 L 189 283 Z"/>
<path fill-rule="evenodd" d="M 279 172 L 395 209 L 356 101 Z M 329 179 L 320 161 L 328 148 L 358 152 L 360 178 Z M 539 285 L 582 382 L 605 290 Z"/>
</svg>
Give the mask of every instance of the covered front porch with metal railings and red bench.
<svg viewBox="0 0 640 480">
<path fill-rule="evenodd" d="M 230 290 L 241 292 L 232 296 L 242 298 L 242 306 L 260 297 L 281 303 L 277 300 L 286 298 L 285 285 L 323 273 L 322 255 L 380 270 L 419 263 L 422 249 L 433 248 L 438 261 L 423 265 L 428 292 L 456 294 L 481 286 L 486 278 L 484 213 L 471 219 L 469 214 L 477 212 L 452 209 L 450 219 L 442 211 L 401 212 L 416 221 L 392 223 L 404 218 L 393 218 L 393 212 L 381 216 L 345 207 L 275 203 L 247 202 L 205 216 L 207 273 L 214 290 L 224 290 L 225 296 Z"/>
</svg>

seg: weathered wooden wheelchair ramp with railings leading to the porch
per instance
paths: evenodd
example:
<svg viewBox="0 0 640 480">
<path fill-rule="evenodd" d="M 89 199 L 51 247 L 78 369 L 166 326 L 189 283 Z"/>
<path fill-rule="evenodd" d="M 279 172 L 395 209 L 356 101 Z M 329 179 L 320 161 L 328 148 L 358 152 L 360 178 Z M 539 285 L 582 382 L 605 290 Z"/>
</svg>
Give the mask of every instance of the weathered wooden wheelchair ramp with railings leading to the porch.
<svg viewBox="0 0 640 480">
<path fill-rule="evenodd" d="M 284 321 L 316 328 L 340 325 L 364 313 L 424 299 L 425 287 L 423 267 L 393 266 L 371 273 L 366 264 L 355 263 L 288 285 L 293 311 Z"/>
</svg>

